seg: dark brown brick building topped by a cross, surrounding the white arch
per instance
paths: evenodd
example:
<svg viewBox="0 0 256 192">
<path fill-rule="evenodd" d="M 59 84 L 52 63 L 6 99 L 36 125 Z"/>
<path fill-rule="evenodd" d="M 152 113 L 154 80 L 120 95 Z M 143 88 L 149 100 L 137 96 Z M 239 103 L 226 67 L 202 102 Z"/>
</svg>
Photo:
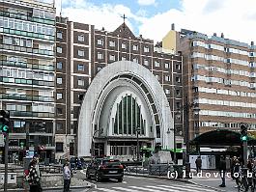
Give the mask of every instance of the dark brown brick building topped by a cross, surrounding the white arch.
<svg viewBox="0 0 256 192">
<path fill-rule="evenodd" d="M 164 53 L 160 47 L 155 46 L 154 41 L 142 36 L 135 37 L 126 23 L 120 25 L 113 32 L 107 32 L 104 28 L 98 30 L 95 29 L 94 25 L 72 22 L 68 18 L 57 17 L 56 21 L 57 117 L 55 141 L 57 158 L 63 155 L 75 154 L 78 150 L 80 136 L 78 126 L 79 128 L 85 128 L 85 125 L 79 125 L 79 120 L 84 118 L 81 116 L 84 96 L 86 96 L 88 90 L 93 89 L 90 86 L 94 79 L 103 75 L 101 70 L 118 61 L 121 63 L 122 61 L 130 61 L 132 64 L 139 65 L 139 68 L 142 66 L 143 70 L 146 69 L 155 75 L 154 79 L 157 79 L 168 100 L 169 110 L 171 111 L 170 119 L 176 114 L 177 118 L 173 123 L 175 124 L 178 148 L 181 148 L 184 134 L 182 129 L 183 117 L 180 111 L 180 107 L 183 105 L 182 56 Z M 107 79 L 105 80 L 107 81 Z M 96 99 L 93 98 L 92 103 Z M 123 117 L 124 115 L 120 116 Z M 130 148 L 136 146 L 135 131 L 132 131 L 129 127 L 128 129 L 124 128 L 124 123 L 122 127 L 119 126 L 123 128 L 120 129 L 122 134 L 118 134 L 118 137 L 115 135 L 111 139 L 109 135 L 105 135 L 106 140 L 102 139 L 103 135 L 100 135 L 100 128 L 102 128 L 100 123 L 93 123 L 93 121 L 90 123 L 89 131 L 93 130 L 90 133 L 91 136 L 88 137 L 90 139 L 87 137 L 80 138 L 80 140 L 87 141 L 83 147 L 88 148 L 90 152 L 87 152 L 86 155 L 89 155 L 89 153 L 128 155 L 131 154 Z M 140 123 L 140 126 L 143 126 L 142 124 Z M 151 129 L 161 128 L 156 128 L 155 125 Z M 169 129 L 173 131 L 173 125 Z M 103 128 L 102 132 L 104 132 Z M 150 141 L 152 140 L 154 138 L 150 139 Z M 145 141 L 144 143 L 141 141 L 140 146 L 154 147 L 151 142 L 147 143 Z M 173 143 L 173 140 L 170 143 Z"/>
</svg>

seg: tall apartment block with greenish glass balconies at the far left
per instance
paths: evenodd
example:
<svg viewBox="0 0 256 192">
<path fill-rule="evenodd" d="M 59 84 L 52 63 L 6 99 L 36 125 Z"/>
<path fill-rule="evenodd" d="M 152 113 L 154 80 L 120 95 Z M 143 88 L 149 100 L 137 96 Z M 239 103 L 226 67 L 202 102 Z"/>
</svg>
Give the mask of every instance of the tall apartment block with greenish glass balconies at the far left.
<svg viewBox="0 0 256 192">
<path fill-rule="evenodd" d="M 54 1 L 0 3 L 0 108 L 12 120 L 10 159 L 23 150 L 54 159 Z"/>
</svg>

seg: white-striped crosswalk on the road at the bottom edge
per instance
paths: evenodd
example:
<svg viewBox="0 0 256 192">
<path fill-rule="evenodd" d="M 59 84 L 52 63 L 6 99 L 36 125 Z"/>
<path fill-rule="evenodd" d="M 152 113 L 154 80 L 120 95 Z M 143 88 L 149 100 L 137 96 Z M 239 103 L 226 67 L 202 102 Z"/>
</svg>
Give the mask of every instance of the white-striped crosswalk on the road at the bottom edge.
<svg viewBox="0 0 256 192">
<path fill-rule="evenodd" d="M 115 186 L 111 188 L 97 188 L 98 191 L 104 192 L 213 192 L 215 190 L 203 188 L 199 185 L 183 184 L 178 185 L 147 185 L 147 186 Z"/>
</svg>

